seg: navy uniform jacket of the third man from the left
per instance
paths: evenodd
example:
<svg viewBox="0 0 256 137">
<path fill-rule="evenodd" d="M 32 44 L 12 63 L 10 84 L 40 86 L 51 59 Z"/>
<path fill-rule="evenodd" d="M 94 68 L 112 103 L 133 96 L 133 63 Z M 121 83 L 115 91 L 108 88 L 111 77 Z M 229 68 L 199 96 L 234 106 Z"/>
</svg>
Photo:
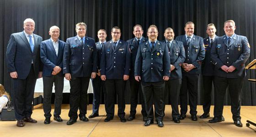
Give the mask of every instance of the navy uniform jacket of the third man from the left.
<svg viewBox="0 0 256 137">
<path fill-rule="evenodd" d="M 97 50 L 95 40 L 85 37 L 82 45 L 77 36 L 67 39 L 63 53 L 63 73 L 74 77 L 91 77 L 97 72 Z"/>
</svg>

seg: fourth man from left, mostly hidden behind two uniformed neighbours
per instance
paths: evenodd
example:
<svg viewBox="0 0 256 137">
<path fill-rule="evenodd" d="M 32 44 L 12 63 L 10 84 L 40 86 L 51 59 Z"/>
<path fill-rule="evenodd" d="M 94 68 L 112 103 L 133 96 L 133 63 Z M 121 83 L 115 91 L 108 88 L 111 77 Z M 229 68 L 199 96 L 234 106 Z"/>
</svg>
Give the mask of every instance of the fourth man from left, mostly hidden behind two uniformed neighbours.
<svg viewBox="0 0 256 137">
<path fill-rule="evenodd" d="M 104 29 L 100 29 L 97 34 L 99 38 L 99 42 L 96 42 L 96 48 L 97 48 L 97 75 L 94 79 L 92 79 L 92 86 L 93 86 L 93 102 L 92 102 L 92 113 L 89 116 L 89 118 L 94 118 L 96 116 L 99 116 L 99 107 L 100 107 L 100 100 L 101 100 L 101 93 L 106 93 L 105 88 L 105 81 L 101 80 L 101 50 L 103 47 L 103 44 L 106 43 L 106 37 L 107 32 Z M 101 92 L 102 91 L 102 92 Z M 103 95 L 103 94 L 102 94 Z"/>
</svg>

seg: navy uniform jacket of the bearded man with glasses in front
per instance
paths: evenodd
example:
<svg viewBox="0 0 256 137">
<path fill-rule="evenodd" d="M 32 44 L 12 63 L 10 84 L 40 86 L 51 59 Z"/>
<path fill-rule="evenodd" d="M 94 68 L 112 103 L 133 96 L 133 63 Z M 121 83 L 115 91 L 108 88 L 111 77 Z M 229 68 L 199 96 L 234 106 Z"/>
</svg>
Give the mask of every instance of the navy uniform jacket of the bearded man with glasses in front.
<svg viewBox="0 0 256 137">
<path fill-rule="evenodd" d="M 159 82 L 163 76 L 170 77 L 170 56 L 165 43 L 156 41 L 153 51 L 149 41 L 139 44 L 134 76 L 140 76 L 143 82 Z"/>
</svg>

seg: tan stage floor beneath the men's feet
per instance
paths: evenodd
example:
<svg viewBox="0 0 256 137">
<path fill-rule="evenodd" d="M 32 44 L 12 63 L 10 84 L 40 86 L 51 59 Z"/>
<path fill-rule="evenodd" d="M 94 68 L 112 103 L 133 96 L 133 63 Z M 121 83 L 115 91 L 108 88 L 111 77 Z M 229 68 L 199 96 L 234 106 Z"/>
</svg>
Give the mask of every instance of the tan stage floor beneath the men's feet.
<svg viewBox="0 0 256 137">
<path fill-rule="evenodd" d="M 129 115 L 129 107 L 126 105 L 126 117 Z M 156 124 L 144 126 L 140 115 L 141 106 L 138 105 L 136 119 L 120 122 L 118 116 L 110 122 L 104 122 L 106 112 L 104 105 L 100 106 L 100 116 L 89 119 L 89 122 L 77 121 L 74 125 L 66 125 L 69 120 L 69 105 L 63 105 L 61 117 L 64 122 L 53 121 L 49 125 L 43 124 L 43 107 L 37 105 L 34 108 L 32 118 L 38 123 L 26 123 L 25 127 L 16 127 L 16 121 L 0 121 L 0 137 L 256 137 L 255 126 L 246 127 L 246 120 L 256 122 L 256 106 L 242 106 L 241 117 L 243 127 L 233 124 L 230 106 L 224 106 L 225 121 L 220 123 L 208 123 L 207 119 L 191 121 L 190 114 L 181 120 L 180 124 L 171 121 L 171 106 L 165 107 L 165 126 L 160 128 Z M 203 107 L 198 105 L 197 116 L 203 113 Z M 91 114 L 91 105 L 88 106 L 87 115 Z M 52 110 L 53 113 L 53 110 Z M 117 105 L 116 105 L 117 115 Z M 211 107 L 213 116 L 213 107 Z M 211 117 L 212 118 L 212 117 Z"/>
</svg>

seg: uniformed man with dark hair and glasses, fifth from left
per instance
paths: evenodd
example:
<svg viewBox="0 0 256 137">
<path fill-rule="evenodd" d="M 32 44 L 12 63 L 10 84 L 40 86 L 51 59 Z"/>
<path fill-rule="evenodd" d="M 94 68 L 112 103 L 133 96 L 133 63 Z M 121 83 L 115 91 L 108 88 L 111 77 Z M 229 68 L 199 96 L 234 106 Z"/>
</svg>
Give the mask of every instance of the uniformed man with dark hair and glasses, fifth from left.
<svg viewBox="0 0 256 137">
<path fill-rule="evenodd" d="M 101 80 L 105 81 L 106 86 L 107 117 L 104 121 L 108 122 L 114 117 L 117 94 L 117 115 L 121 122 L 126 122 L 124 90 L 126 80 L 129 79 L 131 55 L 128 43 L 120 40 L 121 29 L 117 26 L 112 27 L 111 35 L 112 40 L 103 45 L 101 54 Z"/>
</svg>

